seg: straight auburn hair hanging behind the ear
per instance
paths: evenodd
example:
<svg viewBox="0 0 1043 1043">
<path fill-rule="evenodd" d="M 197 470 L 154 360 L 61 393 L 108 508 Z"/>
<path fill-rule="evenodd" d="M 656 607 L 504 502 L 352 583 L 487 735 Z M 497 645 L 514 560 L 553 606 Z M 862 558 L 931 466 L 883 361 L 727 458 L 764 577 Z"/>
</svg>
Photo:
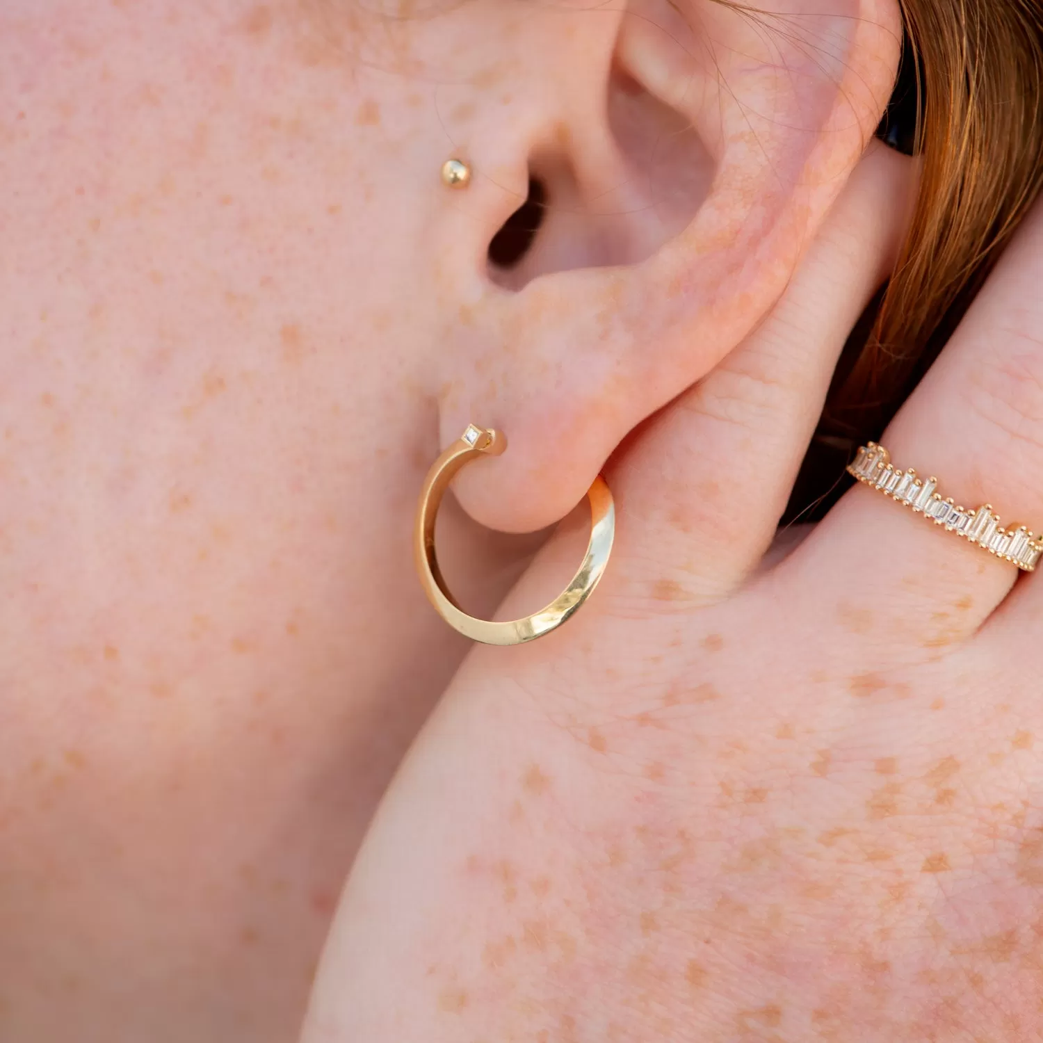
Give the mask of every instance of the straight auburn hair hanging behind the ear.
<svg viewBox="0 0 1043 1043">
<path fill-rule="evenodd" d="M 1043 0 L 899 2 L 902 68 L 879 134 L 920 156 L 919 198 L 838 367 L 790 520 L 831 505 L 847 458 L 916 387 L 1043 184 Z"/>
</svg>

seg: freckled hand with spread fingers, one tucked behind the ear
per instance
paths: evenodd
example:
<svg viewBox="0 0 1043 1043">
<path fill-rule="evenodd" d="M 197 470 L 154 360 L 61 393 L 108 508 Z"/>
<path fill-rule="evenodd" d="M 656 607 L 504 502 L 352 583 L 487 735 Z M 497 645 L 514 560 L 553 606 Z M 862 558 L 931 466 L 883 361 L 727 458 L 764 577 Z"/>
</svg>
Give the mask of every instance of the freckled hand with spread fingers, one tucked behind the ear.
<svg viewBox="0 0 1043 1043">
<path fill-rule="evenodd" d="M 770 319 L 617 455 L 583 612 L 469 657 L 307 1043 L 1043 1039 L 1043 580 L 862 486 L 761 564 L 907 174 L 870 155 Z M 1041 277 L 1037 212 L 881 439 L 1037 525 Z"/>
</svg>

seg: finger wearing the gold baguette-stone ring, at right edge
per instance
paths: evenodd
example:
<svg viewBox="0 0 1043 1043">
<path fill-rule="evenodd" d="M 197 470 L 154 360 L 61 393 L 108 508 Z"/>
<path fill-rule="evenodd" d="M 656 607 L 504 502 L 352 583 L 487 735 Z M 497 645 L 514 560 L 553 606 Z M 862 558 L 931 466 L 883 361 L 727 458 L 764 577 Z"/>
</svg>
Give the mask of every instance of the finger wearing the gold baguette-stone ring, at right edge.
<svg viewBox="0 0 1043 1043">
<path fill-rule="evenodd" d="M 998 527 L 1013 530 L 1024 522 L 1037 532 L 1043 520 L 1041 281 L 1043 209 L 1037 205 L 880 439 L 896 469 L 937 476 L 939 494 L 966 513 L 988 504 Z M 973 520 L 960 525 L 976 535 Z M 977 630 L 1018 578 L 1015 565 L 865 486 L 838 505 L 801 554 L 845 575 L 849 599 L 887 598 L 893 636 L 928 648 Z"/>
</svg>

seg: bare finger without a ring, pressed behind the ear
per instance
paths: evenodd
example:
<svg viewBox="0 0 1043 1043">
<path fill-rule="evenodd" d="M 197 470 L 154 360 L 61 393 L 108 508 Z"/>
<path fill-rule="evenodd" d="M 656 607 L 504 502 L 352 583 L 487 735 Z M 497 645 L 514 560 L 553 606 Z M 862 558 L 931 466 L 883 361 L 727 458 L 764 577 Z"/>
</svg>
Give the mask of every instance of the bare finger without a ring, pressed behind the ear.
<svg viewBox="0 0 1043 1043">
<path fill-rule="evenodd" d="M 893 266 L 914 167 L 871 148 L 766 321 L 614 462 L 616 553 L 639 549 L 644 576 L 653 555 L 656 589 L 722 597 L 768 550 L 840 353 Z"/>
</svg>

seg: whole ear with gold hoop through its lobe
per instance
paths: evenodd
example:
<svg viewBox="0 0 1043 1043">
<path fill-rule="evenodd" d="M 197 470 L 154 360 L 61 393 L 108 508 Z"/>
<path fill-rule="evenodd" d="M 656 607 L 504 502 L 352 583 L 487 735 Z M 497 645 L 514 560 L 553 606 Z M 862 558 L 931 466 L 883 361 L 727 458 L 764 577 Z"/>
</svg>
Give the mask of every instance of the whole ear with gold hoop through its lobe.
<svg viewBox="0 0 1043 1043">
<path fill-rule="evenodd" d="M 566 514 L 779 297 L 883 112 L 901 21 L 897 0 L 493 0 L 483 18 L 501 82 L 440 91 L 474 179 L 434 219 L 459 305 L 435 364 L 443 445 L 470 422 L 508 438 L 457 495 L 518 532 Z M 538 228 L 505 251 L 531 181 Z"/>
</svg>

